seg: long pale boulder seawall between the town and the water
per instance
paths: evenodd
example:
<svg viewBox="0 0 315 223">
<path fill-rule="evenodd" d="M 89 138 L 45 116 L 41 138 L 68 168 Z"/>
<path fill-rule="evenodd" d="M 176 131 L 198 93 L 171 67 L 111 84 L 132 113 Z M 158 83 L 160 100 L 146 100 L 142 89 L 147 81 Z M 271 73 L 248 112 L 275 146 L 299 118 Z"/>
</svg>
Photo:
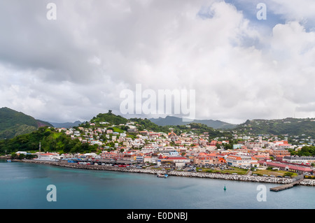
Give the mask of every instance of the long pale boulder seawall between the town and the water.
<svg viewBox="0 0 315 223">
<path fill-rule="evenodd" d="M 15 161 L 15 160 L 14 160 Z M 16 160 L 23 162 L 31 162 L 36 164 L 49 164 L 52 166 L 62 166 L 66 168 L 81 168 L 97 171 L 120 171 L 120 172 L 130 172 L 130 173 L 149 173 L 149 174 L 165 174 L 163 170 L 148 169 L 148 168 L 130 168 L 130 167 L 116 167 L 116 166 L 100 166 L 100 165 L 83 165 L 83 164 L 73 164 L 62 161 L 35 161 L 30 159 Z M 212 179 L 222 179 L 222 180 L 239 180 L 247 182 L 269 182 L 277 184 L 290 184 L 293 182 L 292 178 L 272 178 L 265 176 L 254 176 L 254 175 L 232 175 L 223 173 L 201 173 L 201 172 L 187 172 L 187 171 L 169 171 L 168 175 L 190 177 L 190 178 L 212 178 Z M 298 183 L 298 185 L 315 186 L 315 180 L 304 179 Z"/>
</svg>

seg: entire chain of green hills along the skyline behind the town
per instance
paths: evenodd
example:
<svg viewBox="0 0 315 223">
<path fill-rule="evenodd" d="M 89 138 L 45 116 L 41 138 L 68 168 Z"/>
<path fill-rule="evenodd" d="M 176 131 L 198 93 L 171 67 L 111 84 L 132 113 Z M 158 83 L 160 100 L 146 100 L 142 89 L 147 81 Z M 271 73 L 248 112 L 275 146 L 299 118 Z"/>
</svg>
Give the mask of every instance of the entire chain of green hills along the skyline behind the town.
<svg viewBox="0 0 315 223">
<path fill-rule="evenodd" d="M 93 117 L 90 122 L 111 122 L 112 124 L 125 124 L 130 120 L 138 120 L 137 118 L 127 119 L 120 115 L 109 113 L 99 113 L 96 117 Z M 265 119 L 255 119 L 246 120 L 242 124 L 230 124 L 227 122 L 222 122 L 220 120 L 191 120 L 190 122 L 183 122 L 181 117 L 167 116 L 159 118 L 148 118 L 143 119 L 152 122 L 146 123 L 147 127 L 152 127 L 153 129 L 160 129 L 159 127 L 185 127 L 193 123 L 204 124 L 207 127 L 213 129 L 220 129 L 223 131 L 237 131 L 237 134 L 289 134 L 291 136 L 306 134 L 315 139 L 315 118 L 290 118 L 287 117 L 282 120 L 265 120 Z M 56 128 L 71 128 L 78 127 L 84 122 L 45 122 L 41 120 L 36 120 L 30 115 L 25 115 L 22 112 L 3 107 L 0 108 L 0 140 L 4 138 L 13 138 L 21 134 L 27 134 L 31 131 L 35 131 L 38 127 L 56 127 Z M 153 126 L 156 124 L 157 126 Z"/>
</svg>

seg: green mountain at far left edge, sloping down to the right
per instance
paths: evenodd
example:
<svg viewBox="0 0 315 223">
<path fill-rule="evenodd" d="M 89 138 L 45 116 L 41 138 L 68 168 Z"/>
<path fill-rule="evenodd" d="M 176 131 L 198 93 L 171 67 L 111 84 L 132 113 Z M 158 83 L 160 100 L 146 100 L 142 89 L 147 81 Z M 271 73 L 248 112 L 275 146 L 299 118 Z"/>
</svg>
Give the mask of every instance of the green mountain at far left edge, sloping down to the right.
<svg viewBox="0 0 315 223">
<path fill-rule="evenodd" d="M 52 127 L 52 124 L 10 108 L 0 108 L 0 139 L 28 134 L 44 126 Z"/>
</svg>

